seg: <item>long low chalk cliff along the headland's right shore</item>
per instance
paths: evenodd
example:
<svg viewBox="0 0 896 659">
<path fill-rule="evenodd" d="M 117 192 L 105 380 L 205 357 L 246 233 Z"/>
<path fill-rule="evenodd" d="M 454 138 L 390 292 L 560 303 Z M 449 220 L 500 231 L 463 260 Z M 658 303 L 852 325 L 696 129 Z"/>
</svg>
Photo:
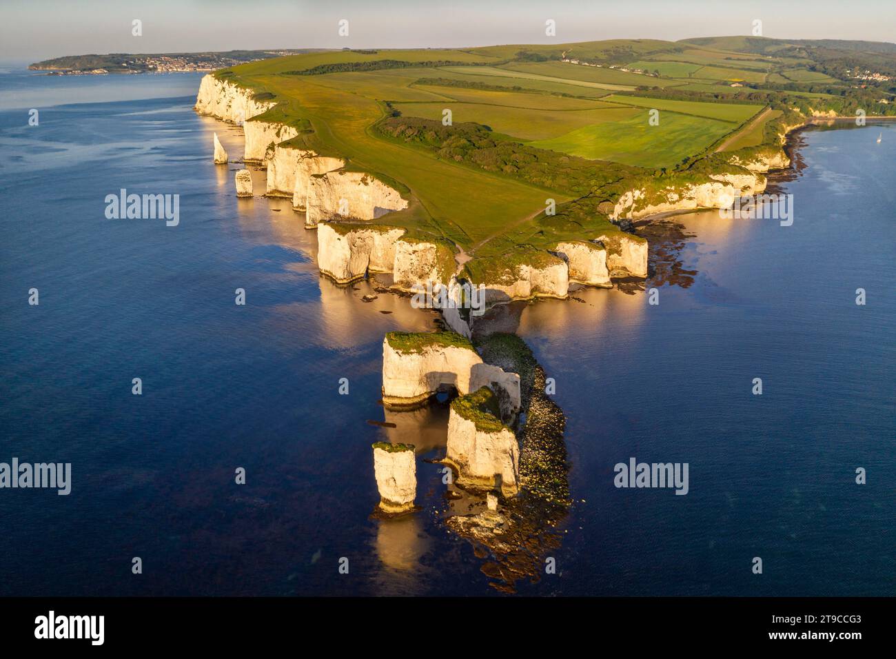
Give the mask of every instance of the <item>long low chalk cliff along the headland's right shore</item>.
<svg viewBox="0 0 896 659">
<path fill-rule="evenodd" d="M 713 174 L 711 182 L 699 185 L 667 186 L 659 194 L 650 195 L 643 188 L 628 190 L 619 197 L 611 220 L 637 219 L 658 212 L 694 211 L 698 208 L 729 208 L 735 198 L 755 195 L 765 189 L 762 175 Z"/>
</svg>

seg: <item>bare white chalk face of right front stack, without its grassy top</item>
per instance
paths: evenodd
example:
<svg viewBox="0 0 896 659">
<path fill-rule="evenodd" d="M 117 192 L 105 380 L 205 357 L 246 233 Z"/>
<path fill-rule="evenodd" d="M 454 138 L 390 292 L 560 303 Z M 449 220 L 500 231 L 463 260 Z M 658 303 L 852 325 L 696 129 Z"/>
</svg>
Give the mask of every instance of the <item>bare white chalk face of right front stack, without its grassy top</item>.
<svg viewBox="0 0 896 659">
<path fill-rule="evenodd" d="M 457 484 L 466 488 L 500 489 L 505 497 L 520 490 L 520 446 L 508 428 L 481 429 L 452 406 L 448 416 L 445 461 L 458 471 Z"/>
</svg>

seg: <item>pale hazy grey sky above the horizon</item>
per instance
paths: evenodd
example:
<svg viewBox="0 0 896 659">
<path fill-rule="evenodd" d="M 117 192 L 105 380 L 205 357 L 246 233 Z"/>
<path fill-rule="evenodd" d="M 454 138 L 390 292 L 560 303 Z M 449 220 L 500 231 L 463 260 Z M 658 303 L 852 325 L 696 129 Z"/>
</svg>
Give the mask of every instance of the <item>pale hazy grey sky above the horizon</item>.
<svg viewBox="0 0 896 659">
<path fill-rule="evenodd" d="M 132 35 L 134 19 L 142 36 Z M 349 21 L 340 37 L 339 21 Z M 545 22 L 556 22 L 556 37 Z M 0 61 L 87 53 L 450 48 L 751 34 L 896 40 L 893 0 L 2 0 Z"/>
</svg>

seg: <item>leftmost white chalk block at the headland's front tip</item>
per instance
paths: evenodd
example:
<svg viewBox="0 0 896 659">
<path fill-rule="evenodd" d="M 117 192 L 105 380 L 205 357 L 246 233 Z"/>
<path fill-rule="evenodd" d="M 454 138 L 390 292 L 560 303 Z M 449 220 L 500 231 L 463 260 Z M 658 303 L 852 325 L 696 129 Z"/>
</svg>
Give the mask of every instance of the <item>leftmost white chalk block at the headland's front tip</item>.
<svg viewBox="0 0 896 659">
<path fill-rule="evenodd" d="M 318 224 L 317 267 L 339 283 L 360 279 L 368 271 L 392 272 L 395 243 L 403 233 L 396 227 Z"/>
</svg>

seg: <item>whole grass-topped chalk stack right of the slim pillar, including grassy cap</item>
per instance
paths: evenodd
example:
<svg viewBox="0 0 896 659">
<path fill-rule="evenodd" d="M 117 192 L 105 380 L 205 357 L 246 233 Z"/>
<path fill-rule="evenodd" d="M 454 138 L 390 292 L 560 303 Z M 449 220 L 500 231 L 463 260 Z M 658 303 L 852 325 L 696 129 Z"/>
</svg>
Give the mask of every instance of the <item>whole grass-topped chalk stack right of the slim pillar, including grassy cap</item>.
<svg viewBox="0 0 896 659">
<path fill-rule="evenodd" d="M 495 395 L 487 387 L 456 398 L 448 417 L 445 462 L 457 470 L 459 486 L 512 497 L 520 490 L 520 446 L 496 412 Z"/>
</svg>

